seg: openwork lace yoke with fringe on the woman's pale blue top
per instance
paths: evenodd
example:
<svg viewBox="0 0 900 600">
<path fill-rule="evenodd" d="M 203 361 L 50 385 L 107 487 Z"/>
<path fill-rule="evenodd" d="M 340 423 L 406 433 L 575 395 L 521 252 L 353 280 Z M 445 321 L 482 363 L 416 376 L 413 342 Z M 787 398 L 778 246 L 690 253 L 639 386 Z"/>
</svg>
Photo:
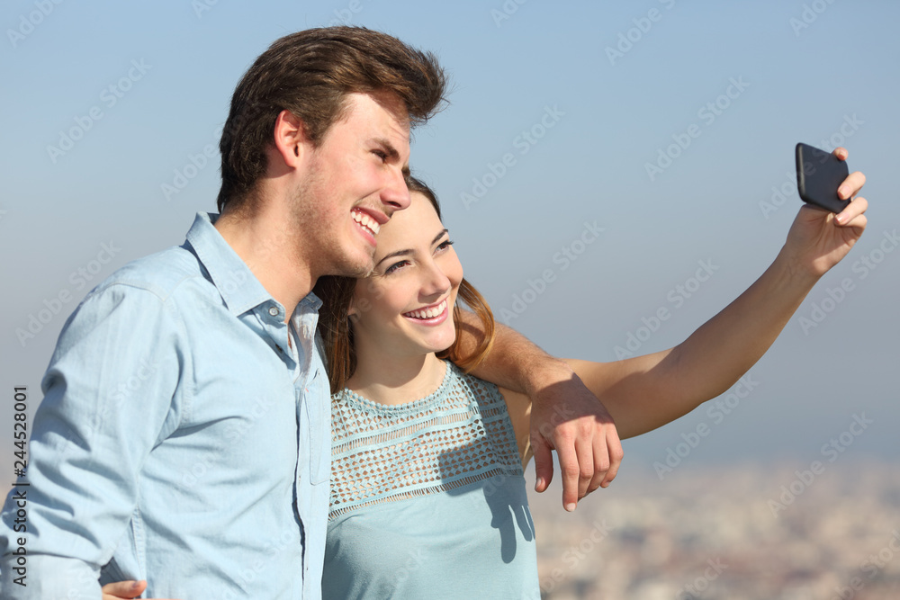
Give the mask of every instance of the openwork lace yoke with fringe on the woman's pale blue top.
<svg viewBox="0 0 900 600">
<path fill-rule="evenodd" d="M 430 396 L 383 405 L 350 390 L 331 399 L 329 520 L 362 506 L 522 474 L 497 386 L 446 362 Z"/>
</svg>

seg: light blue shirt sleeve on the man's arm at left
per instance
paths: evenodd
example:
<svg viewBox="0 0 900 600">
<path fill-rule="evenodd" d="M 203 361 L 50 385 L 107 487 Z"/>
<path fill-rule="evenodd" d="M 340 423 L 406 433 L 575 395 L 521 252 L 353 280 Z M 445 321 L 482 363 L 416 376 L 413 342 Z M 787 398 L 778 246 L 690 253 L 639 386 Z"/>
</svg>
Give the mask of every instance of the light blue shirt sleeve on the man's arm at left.
<svg viewBox="0 0 900 600">
<path fill-rule="evenodd" d="M 175 302 L 133 285 L 92 292 L 68 319 L 41 383 L 20 480 L 30 485 L 0 515 L 0 596 L 100 597 L 141 464 L 177 425 L 183 348 Z M 14 530 L 21 489 L 24 533 Z M 24 565 L 13 554 L 23 536 Z"/>
</svg>

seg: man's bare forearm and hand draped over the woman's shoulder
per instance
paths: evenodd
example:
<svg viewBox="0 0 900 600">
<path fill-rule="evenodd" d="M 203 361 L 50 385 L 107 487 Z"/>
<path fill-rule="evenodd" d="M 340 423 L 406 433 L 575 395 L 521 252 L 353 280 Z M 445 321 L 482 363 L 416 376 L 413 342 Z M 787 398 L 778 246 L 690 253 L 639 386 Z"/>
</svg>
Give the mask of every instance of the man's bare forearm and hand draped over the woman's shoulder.
<svg viewBox="0 0 900 600">
<path fill-rule="evenodd" d="M 482 338 L 481 323 L 470 312 L 463 311 L 461 330 L 464 350 Z M 607 487 L 616 477 L 622 461 L 616 425 L 568 364 L 498 324 L 491 352 L 473 374 L 532 399 L 537 491 L 543 492 L 553 479 L 552 450 L 560 461 L 563 506 L 568 511 L 575 509 L 581 497 Z"/>
</svg>

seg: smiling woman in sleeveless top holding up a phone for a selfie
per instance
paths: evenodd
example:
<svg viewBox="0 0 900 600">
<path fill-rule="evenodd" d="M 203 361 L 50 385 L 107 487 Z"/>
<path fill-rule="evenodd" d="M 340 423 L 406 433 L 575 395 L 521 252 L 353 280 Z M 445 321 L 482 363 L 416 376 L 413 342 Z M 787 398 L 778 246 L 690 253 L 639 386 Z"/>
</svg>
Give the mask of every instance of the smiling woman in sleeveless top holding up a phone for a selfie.
<svg viewBox="0 0 900 600">
<path fill-rule="evenodd" d="M 863 182 L 851 175 L 842 196 Z M 410 208 L 379 233 L 374 272 L 316 288 L 334 394 L 323 597 L 539 598 L 522 477 L 530 402 L 466 374 L 490 351 L 491 311 L 463 279 L 434 194 L 416 180 L 410 192 Z M 730 388 L 860 237 L 866 208 L 862 198 L 839 216 L 802 208 L 766 273 L 682 344 L 571 361 L 620 436 Z M 463 342 L 457 297 L 482 322 L 478 344 Z"/>
</svg>

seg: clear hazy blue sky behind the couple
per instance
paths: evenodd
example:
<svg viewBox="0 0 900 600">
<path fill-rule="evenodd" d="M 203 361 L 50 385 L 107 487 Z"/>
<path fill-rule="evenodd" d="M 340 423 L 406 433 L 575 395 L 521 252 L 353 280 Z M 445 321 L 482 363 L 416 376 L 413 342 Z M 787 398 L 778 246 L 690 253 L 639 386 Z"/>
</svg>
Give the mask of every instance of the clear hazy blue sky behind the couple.
<svg viewBox="0 0 900 600">
<path fill-rule="evenodd" d="M 701 424 L 686 463 L 808 464 L 861 413 L 875 423 L 841 460 L 900 460 L 900 5 L 887 0 L 4 3 L 2 398 L 27 385 L 33 408 L 78 300 L 215 210 L 218 153 L 203 150 L 254 58 L 338 19 L 433 50 L 452 75 L 412 166 L 441 196 L 467 277 L 554 354 L 608 361 L 630 336 L 641 353 L 680 342 L 778 253 L 800 205 L 797 141 L 849 148 L 870 182 L 860 244 L 730 414 L 702 407 L 627 443 L 626 464 L 649 468 Z M 787 193 L 773 202 L 773 187 Z"/>
</svg>

